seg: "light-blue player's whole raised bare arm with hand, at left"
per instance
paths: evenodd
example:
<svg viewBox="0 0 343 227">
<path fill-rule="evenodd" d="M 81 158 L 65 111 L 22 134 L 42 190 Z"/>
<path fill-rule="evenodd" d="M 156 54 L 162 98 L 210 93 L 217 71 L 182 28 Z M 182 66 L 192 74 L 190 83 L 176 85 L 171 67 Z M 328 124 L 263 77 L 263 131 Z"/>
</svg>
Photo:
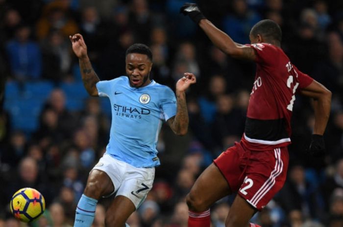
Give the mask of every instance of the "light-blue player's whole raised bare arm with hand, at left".
<svg viewBox="0 0 343 227">
<path fill-rule="evenodd" d="M 85 86 L 88 94 L 91 96 L 98 96 L 96 84 L 100 80 L 93 70 L 91 61 L 88 58 L 87 46 L 83 37 L 80 34 L 75 34 L 73 36 L 69 36 L 69 39 L 72 41 L 73 51 L 78 58 L 83 85 Z"/>
</svg>

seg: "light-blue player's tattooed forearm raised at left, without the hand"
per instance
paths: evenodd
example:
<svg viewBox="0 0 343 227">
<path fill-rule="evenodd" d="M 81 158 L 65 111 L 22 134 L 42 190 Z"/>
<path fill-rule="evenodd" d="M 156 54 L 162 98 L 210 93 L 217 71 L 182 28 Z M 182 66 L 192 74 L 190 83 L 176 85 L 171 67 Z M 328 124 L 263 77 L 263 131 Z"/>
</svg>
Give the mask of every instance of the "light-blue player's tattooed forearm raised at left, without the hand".
<svg viewBox="0 0 343 227">
<path fill-rule="evenodd" d="M 98 90 L 96 84 L 100 81 L 98 75 L 95 73 L 92 63 L 88 57 L 79 58 L 80 71 L 82 76 L 82 82 L 85 86 L 88 94 L 91 96 L 98 96 Z"/>
</svg>

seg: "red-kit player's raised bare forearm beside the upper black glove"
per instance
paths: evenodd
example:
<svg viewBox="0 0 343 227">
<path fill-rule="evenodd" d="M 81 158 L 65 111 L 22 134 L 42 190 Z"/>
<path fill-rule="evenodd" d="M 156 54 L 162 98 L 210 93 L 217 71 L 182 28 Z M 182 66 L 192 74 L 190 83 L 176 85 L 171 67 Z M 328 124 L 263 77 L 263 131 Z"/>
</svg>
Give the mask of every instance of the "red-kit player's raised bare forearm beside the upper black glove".
<svg viewBox="0 0 343 227">
<path fill-rule="evenodd" d="M 238 46 L 227 34 L 222 32 L 208 20 L 201 20 L 199 22 L 199 26 L 215 46 L 221 49 L 224 53 L 235 56 Z"/>
</svg>

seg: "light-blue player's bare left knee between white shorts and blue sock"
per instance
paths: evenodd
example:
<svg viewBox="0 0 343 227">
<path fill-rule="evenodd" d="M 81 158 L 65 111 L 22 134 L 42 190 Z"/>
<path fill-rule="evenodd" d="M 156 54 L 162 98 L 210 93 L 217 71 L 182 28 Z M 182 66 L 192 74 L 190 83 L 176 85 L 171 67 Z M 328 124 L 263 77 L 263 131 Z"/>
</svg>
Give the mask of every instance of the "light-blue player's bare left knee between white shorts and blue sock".
<svg viewBox="0 0 343 227">
<path fill-rule="evenodd" d="M 114 191 L 110 177 L 102 170 L 93 169 L 88 176 L 84 194 L 88 197 L 99 199 Z"/>
</svg>

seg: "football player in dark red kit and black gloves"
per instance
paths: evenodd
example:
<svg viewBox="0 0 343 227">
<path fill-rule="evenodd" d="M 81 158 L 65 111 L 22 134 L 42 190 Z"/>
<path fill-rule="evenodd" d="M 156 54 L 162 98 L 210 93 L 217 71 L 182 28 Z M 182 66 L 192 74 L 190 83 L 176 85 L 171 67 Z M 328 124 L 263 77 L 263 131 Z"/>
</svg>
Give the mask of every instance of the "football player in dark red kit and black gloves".
<svg viewBox="0 0 343 227">
<path fill-rule="evenodd" d="M 181 13 L 200 26 L 210 40 L 233 58 L 256 62 L 255 82 L 247 110 L 245 132 L 239 143 L 222 152 L 196 180 L 186 201 L 189 227 L 210 227 L 209 207 L 237 192 L 226 218 L 226 227 L 258 227 L 249 223 L 285 183 L 291 116 L 295 93 L 313 98 L 315 126 L 308 152 L 325 151 L 323 133 L 329 118 L 331 92 L 299 71 L 281 46 L 281 29 L 263 20 L 250 31 L 251 44 L 235 43 L 204 15 L 194 3 L 185 3 Z"/>
</svg>

